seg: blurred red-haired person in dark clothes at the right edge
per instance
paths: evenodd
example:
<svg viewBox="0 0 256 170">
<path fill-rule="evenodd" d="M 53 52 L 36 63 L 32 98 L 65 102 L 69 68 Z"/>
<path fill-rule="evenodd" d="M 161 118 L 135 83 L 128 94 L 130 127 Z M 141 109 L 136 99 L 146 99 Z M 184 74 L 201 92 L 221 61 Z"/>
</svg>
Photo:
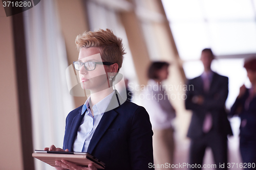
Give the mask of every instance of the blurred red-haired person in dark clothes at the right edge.
<svg viewBox="0 0 256 170">
<path fill-rule="evenodd" d="M 243 85 L 230 114 L 241 117 L 240 152 L 247 168 L 255 168 L 256 164 L 256 58 L 245 61 L 244 67 L 251 82 L 251 88 Z M 254 163 L 254 165 L 252 164 Z"/>
</svg>

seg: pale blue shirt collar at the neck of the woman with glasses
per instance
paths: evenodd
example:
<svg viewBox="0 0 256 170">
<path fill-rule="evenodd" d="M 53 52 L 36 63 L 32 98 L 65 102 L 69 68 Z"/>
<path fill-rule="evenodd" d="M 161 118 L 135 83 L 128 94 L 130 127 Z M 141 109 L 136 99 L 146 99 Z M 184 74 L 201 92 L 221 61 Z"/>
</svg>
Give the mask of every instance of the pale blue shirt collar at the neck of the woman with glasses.
<svg viewBox="0 0 256 170">
<path fill-rule="evenodd" d="M 97 114 L 103 114 L 106 110 L 106 108 L 109 106 L 110 101 L 112 99 L 112 96 L 114 95 L 115 90 L 110 93 L 109 95 L 107 95 L 104 99 L 102 99 L 101 101 L 99 101 L 98 103 L 96 103 L 93 106 L 93 114 L 97 115 Z M 91 100 L 91 96 L 89 96 L 89 98 L 86 100 L 86 102 L 84 103 L 83 107 L 82 107 L 82 112 L 81 114 L 83 114 L 87 108 L 89 108 L 90 104 L 89 101 Z"/>
</svg>

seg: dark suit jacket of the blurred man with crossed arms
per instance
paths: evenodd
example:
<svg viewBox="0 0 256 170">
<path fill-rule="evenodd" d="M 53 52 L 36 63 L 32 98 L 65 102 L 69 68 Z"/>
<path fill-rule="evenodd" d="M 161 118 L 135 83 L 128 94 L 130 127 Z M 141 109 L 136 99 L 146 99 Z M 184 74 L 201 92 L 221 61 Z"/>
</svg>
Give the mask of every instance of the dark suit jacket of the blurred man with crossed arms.
<svg viewBox="0 0 256 170">
<path fill-rule="evenodd" d="M 208 92 L 204 91 L 202 77 L 196 77 L 188 80 L 187 99 L 185 100 L 186 109 L 192 110 L 191 123 L 188 129 L 187 136 L 196 138 L 203 135 L 203 122 L 206 113 L 212 115 L 212 131 L 227 135 L 232 135 L 231 127 L 227 119 L 225 111 L 225 102 L 228 95 L 228 78 L 218 75 L 214 72 Z M 192 86 L 193 85 L 193 88 Z M 202 95 L 204 102 L 202 105 L 193 103 L 193 97 Z"/>
</svg>

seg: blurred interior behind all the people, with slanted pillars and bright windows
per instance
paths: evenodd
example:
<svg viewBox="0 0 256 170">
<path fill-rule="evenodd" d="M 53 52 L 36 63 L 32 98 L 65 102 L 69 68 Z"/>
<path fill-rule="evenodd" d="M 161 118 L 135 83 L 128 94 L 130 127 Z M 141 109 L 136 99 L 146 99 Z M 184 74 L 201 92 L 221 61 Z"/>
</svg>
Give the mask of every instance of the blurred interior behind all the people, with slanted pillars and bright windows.
<svg viewBox="0 0 256 170">
<path fill-rule="evenodd" d="M 51 144 L 62 148 L 67 114 L 86 101 L 70 95 L 67 85 L 66 69 L 78 58 L 75 38 L 106 28 L 123 39 L 120 73 L 129 80 L 132 102 L 141 105 L 150 62 L 171 63 L 164 83 L 177 96 L 170 101 L 177 111 L 174 163 L 188 162 L 191 113 L 179 96 L 186 80 L 203 72 L 203 48 L 216 55 L 212 70 L 229 78 L 227 109 L 240 86 L 250 87 L 243 63 L 256 54 L 256 0 L 41 0 L 9 17 L 1 6 L 0 169 L 54 169 L 31 154 Z M 229 162 L 240 163 L 240 119 L 230 123 Z M 214 163 L 210 151 L 204 161 Z"/>
</svg>

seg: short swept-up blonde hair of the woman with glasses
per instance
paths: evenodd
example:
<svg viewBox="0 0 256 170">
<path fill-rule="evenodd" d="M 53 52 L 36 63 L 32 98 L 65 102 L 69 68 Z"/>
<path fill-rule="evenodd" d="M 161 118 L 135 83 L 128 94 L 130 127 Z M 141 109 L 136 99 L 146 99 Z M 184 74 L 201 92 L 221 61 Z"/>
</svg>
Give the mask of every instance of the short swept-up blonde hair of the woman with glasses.
<svg viewBox="0 0 256 170">
<path fill-rule="evenodd" d="M 126 53 L 122 39 L 115 36 L 113 31 L 100 29 L 95 32 L 84 32 L 76 37 L 75 42 L 78 50 L 82 47 L 99 47 L 102 61 L 117 63 L 119 69 L 122 67 L 123 55 Z"/>
</svg>

